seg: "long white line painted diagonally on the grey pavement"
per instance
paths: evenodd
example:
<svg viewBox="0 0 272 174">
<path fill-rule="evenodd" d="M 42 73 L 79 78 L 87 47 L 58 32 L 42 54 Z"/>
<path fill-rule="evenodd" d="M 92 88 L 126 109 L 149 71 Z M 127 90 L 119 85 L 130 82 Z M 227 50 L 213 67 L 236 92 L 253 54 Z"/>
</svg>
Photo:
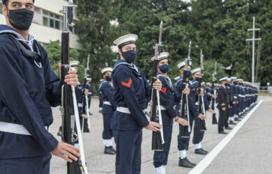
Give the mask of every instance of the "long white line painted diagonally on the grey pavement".
<svg viewBox="0 0 272 174">
<path fill-rule="evenodd" d="M 229 141 L 232 140 L 232 138 L 234 137 L 234 135 L 239 131 L 239 129 L 243 126 L 243 124 L 246 122 L 246 120 L 248 120 L 248 118 L 250 118 L 250 116 L 252 115 L 252 113 L 254 113 L 256 111 L 256 109 L 259 107 L 259 105 L 262 104 L 262 100 L 259 101 L 259 103 L 248 113 L 247 116 L 245 116 L 245 118 L 243 118 L 243 120 L 241 120 L 236 127 L 234 127 L 234 129 L 232 129 L 231 132 L 229 132 L 229 134 L 227 134 L 227 136 L 222 139 L 222 141 L 220 141 L 220 143 L 218 145 L 216 145 L 216 148 L 213 148 L 213 150 L 211 150 L 211 152 L 209 152 L 209 154 L 204 157 L 204 159 L 202 159 L 202 161 L 200 161 L 197 166 L 195 166 L 195 168 L 193 168 L 189 174 L 199 174 L 202 173 L 205 168 L 207 166 L 209 166 L 209 164 L 211 164 L 211 162 L 213 161 L 213 159 L 219 154 L 219 152 L 225 148 L 225 146 L 227 145 L 227 143 L 229 143 Z"/>
</svg>

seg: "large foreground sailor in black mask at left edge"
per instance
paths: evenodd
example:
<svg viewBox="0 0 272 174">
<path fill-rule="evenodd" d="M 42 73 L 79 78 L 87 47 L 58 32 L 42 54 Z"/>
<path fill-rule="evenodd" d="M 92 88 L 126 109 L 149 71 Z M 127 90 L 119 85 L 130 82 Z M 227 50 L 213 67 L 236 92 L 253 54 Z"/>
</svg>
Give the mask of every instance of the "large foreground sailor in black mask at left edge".
<svg viewBox="0 0 272 174">
<path fill-rule="evenodd" d="M 0 25 L 0 173 L 50 173 L 52 155 L 77 160 L 73 145 L 57 141 L 48 127 L 61 104 L 61 81 L 42 45 L 29 34 L 33 0 L 3 0 Z M 77 86 L 70 70 L 67 84 Z M 52 155 L 51 155 L 51 154 Z"/>
</svg>

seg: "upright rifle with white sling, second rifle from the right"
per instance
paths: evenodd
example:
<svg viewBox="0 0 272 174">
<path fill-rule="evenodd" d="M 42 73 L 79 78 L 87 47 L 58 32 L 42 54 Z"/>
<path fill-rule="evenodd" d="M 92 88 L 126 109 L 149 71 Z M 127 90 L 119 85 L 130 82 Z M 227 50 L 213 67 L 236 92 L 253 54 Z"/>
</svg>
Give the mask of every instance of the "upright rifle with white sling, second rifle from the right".
<svg viewBox="0 0 272 174">
<path fill-rule="evenodd" d="M 203 57 L 204 55 L 202 54 L 200 56 L 200 64 L 201 64 L 201 70 L 200 70 L 200 75 L 199 75 L 199 84 L 198 84 L 198 111 L 199 113 L 202 113 L 205 117 L 206 117 L 206 111 L 205 111 L 205 106 L 204 106 L 204 98 L 200 95 L 200 92 L 204 89 L 201 86 L 201 81 L 202 81 L 202 77 L 203 77 Z M 206 130 L 206 119 L 205 120 L 201 120 L 200 119 L 200 131 L 204 131 Z"/>
</svg>

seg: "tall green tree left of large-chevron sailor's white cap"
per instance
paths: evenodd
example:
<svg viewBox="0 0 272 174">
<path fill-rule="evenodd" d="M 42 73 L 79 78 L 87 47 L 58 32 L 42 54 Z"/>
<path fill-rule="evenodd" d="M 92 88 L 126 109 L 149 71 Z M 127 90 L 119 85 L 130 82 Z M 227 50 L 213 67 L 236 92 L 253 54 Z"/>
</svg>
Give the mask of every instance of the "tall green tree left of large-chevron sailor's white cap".
<svg viewBox="0 0 272 174">
<path fill-rule="evenodd" d="M 79 27 L 79 42 L 82 44 L 80 63 L 86 67 L 90 55 L 89 68 L 93 91 L 102 78 L 100 70 L 113 66 L 116 54 L 112 52 L 113 38 L 116 38 L 116 26 L 110 22 L 115 19 L 114 1 L 112 0 L 79 0 L 75 24 Z"/>
</svg>

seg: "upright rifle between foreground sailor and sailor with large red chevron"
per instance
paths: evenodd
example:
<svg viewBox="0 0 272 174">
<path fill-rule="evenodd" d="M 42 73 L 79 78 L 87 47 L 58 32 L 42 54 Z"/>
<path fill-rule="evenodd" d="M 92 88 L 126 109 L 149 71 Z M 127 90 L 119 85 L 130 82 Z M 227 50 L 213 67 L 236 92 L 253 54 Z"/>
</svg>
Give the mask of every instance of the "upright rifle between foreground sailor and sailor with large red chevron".
<svg viewBox="0 0 272 174">
<path fill-rule="evenodd" d="M 84 84 L 83 84 L 83 88 L 84 88 L 84 91 L 83 91 L 83 113 L 88 116 L 89 118 L 83 118 L 83 122 L 82 122 L 82 132 L 90 132 L 90 128 L 91 128 L 91 125 L 90 125 L 90 114 L 89 114 L 89 103 L 88 103 L 88 95 L 85 95 L 84 92 L 85 90 L 87 90 L 86 88 L 86 83 L 87 83 L 87 78 L 89 77 L 89 60 L 90 60 L 90 55 L 88 55 L 88 58 L 87 58 L 87 65 L 86 65 L 86 68 L 84 70 Z"/>
</svg>

